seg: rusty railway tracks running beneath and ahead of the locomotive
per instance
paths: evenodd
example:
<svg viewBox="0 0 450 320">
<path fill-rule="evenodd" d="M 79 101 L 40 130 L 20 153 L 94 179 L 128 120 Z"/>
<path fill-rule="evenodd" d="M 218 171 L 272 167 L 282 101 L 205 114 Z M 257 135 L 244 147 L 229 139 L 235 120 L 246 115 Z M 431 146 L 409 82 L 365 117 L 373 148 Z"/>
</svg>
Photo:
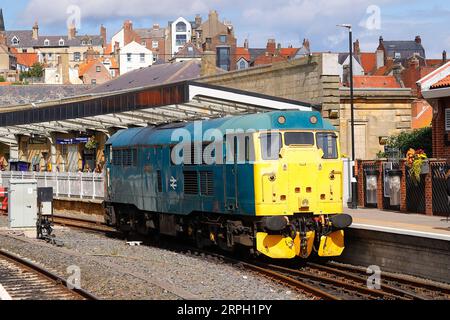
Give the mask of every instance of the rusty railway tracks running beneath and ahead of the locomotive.
<svg viewBox="0 0 450 320">
<path fill-rule="evenodd" d="M 116 232 L 113 228 L 92 221 L 72 218 L 55 218 L 55 223 L 97 232 Z M 252 270 L 256 273 L 302 292 L 311 299 L 324 300 L 429 300 L 450 299 L 450 286 L 434 285 L 425 280 L 413 280 L 401 275 L 382 274 L 382 285 L 378 289 L 367 286 L 366 270 L 361 267 L 344 266 L 336 263 L 326 265 L 308 262 L 303 268 L 291 268 L 283 265 L 260 261 L 237 260 L 234 257 L 212 253 L 183 245 L 165 246 L 164 249 L 180 253 L 197 252 L 213 256 Z"/>
</svg>

